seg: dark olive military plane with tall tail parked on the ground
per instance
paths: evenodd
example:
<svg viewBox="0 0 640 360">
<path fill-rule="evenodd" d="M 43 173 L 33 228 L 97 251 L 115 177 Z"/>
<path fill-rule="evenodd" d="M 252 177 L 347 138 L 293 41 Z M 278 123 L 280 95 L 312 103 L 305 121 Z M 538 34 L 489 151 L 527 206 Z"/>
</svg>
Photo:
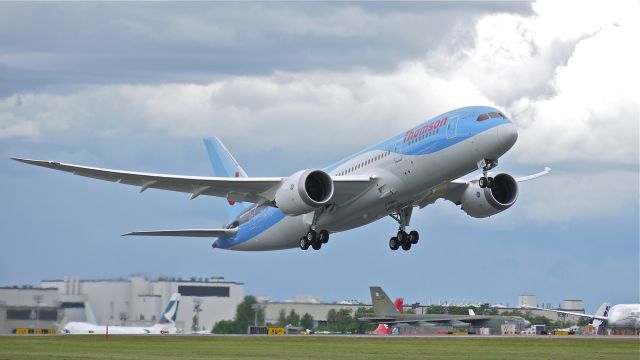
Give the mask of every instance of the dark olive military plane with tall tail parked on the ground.
<svg viewBox="0 0 640 360">
<path fill-rule="evenodd" d="M 513 322 L 521 328 L 528 327 L 531 323 L 520 316 L 501 315 L 476 315 L 473 309 L 469 309 L 469 315 L 450 314 L 405 314 L 391 302 L 391 299 L 379 286 L 369 287 L 373 314 L 359 318 L 360 321 L 371 324 L 384 324 L 387 326 L 408 324 L 415 326 L 451 326 L 454 328 L 490 327 L 499 328 L 505 322 Z"/>
</svg>

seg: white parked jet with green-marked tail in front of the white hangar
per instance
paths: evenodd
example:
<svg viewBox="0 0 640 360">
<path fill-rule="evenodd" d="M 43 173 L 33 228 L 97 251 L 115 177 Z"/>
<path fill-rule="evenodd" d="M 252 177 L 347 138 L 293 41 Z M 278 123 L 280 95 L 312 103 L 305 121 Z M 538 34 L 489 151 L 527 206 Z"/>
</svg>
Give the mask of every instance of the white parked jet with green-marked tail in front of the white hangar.
<svg viewBox="0 0 640 360">
<path fill-rule="evenodd" d="M 165 310 L 160 314 L 160 320 L 150 327 L 140 326 L 101 326 L 87 322 L 73 321 L 63 328 L 65 334 L 176 334 L 176 317 L 180 294 L 174 293 L 169 299 Z"/>
</svg>

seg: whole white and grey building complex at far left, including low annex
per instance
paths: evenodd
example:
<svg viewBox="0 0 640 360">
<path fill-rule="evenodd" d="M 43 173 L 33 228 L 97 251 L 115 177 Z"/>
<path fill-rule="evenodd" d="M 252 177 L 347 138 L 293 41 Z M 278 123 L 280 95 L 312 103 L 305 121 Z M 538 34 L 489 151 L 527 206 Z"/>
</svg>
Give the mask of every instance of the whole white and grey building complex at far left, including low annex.
<svg viewBox="0 0 640 360">
<path fill-rule="evenodd" d="M 209 331 L 220 320 L 233 319 L 244 298 L 244 284 L 224 278 L 159 278 L 142 275 L 125 279 L 81 280 L 65 277 L 44 280 L 42 287 L 0 288 L 0 334 L 56 332 L 59 325 L 95 322 L 99 325 L 151 326 L 169 302 L 182 297 L 176 327 Z"/>
</svg>

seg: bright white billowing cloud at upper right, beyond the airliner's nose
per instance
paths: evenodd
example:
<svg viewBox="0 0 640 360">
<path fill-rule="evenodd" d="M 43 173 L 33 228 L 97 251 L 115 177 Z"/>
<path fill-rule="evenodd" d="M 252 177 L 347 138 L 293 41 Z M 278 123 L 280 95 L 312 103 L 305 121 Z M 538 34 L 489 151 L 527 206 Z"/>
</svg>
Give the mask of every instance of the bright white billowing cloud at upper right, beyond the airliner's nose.
<svg viewBox="0 0 640 360">
<path fill-rule="evenodd" d="M 452 72 L 511 113 L 521 161 L 638 163 L 640 5 L 539 1 L 489 15 Z M 568 19 L 571 19 L 568 21 Z"/>
</svg>

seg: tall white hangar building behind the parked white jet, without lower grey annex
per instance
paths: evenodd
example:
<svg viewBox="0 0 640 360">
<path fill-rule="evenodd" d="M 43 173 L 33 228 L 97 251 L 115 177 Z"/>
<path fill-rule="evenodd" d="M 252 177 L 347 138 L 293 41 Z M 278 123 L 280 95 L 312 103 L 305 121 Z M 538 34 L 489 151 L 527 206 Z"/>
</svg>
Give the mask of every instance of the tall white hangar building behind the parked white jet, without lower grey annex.
<svg viewBox="0 0 640 360">
<path fill-rule="evenodd" d="M 232 319 L 244 298 L 244 284 L 224 278 L 158 278 L 142 275 L 129 279 L 43 280 L 43 288 L 58 290 L 61 300 L 88 304 L 100 325 L 151 326 L 164 310 L 173 293 L 180 293 L 176 327 L 190 333 L 194 316 L 197 330 L 210 330 L 220 320 Z M 90 313 L 85 309 L 85 313 Z M 90 319 L 87 319 L 90 320 Z"/>
</svg>

